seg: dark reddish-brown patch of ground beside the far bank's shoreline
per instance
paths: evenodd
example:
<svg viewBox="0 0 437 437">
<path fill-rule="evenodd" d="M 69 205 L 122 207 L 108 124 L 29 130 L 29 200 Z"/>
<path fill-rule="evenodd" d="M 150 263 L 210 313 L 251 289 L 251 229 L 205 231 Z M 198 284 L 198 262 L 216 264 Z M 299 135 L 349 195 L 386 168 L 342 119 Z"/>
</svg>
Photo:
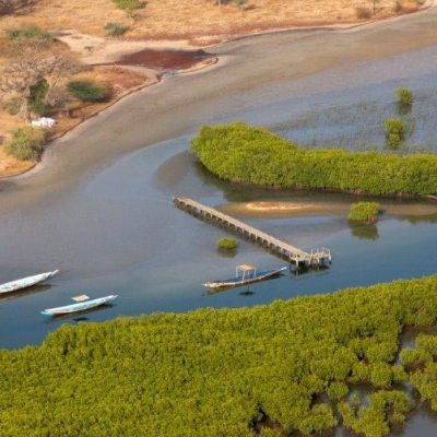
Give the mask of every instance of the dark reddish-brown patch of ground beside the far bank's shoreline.
<svg viewBox="0 0 437 437">
<path fill-rule="evenodd" d="M 144 49 L 126 55 L 117 64 L 141 66 L 161 70 L 187 70 L 197 63 L 211 59 L 212 55 L 203 50 L 151 50 Z"/>
</svg>

